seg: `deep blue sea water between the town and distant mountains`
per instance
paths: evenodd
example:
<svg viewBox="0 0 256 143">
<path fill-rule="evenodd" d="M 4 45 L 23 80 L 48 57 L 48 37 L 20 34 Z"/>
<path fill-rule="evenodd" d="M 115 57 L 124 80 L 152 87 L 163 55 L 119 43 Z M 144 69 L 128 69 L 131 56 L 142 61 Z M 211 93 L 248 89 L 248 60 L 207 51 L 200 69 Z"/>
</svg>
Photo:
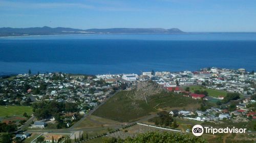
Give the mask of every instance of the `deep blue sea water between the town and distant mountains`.
<svg viewBox="0 0 256 143">
<path fill-rule="evenodd" d="M 256 69 L 256 33 L 102 34 L 0 38 L 0 74 L 121 74 Z"/>
</svg>

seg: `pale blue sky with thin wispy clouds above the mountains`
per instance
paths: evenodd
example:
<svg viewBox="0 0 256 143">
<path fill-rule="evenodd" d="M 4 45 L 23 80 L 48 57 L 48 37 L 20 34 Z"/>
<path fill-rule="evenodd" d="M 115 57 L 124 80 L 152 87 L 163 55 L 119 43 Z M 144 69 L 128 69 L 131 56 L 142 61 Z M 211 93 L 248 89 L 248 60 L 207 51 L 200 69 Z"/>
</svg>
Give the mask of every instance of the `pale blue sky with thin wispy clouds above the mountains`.
<svg viewBox="0 0 256 143">
<path fill-rule="evenodd" d="M 0 27 L 256 32 L 254 0 L 0 0 Z"/>
</svg>

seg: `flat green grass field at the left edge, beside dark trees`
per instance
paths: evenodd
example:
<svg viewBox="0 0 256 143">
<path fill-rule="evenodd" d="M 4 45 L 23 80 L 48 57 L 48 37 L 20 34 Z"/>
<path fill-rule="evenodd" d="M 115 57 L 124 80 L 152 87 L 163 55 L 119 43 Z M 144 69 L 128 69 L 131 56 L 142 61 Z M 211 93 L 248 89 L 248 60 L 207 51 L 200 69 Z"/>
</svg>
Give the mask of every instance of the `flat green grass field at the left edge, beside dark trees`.
<svg viewBox="0 0 256 143">
<path fill-rule="evenodd" d="M 0 117 L 20 115 L 26 112 L 28 115 L 33 113 L 30 106 L 0 106 Z"/>
</svg>

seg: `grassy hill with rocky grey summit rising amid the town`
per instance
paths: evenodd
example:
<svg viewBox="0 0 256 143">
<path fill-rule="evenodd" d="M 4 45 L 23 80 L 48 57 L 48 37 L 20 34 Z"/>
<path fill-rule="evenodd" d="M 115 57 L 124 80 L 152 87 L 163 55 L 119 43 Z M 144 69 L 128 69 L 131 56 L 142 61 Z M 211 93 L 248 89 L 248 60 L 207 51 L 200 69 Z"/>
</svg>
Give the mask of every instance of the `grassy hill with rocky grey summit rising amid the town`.
<svg viewBox="0 0 256 143">
<path fill-rule="evenodd" d="M 119 122 L 131 122 L 165 107 L 186 108 L 194 105 L 196 108 L 196 104 L 196 100 L 166 92 L 152 82 L 144 82 L 138 83 L 130 91 L 118 92 L 93 112 L 93 115 Z"/>
</svg>

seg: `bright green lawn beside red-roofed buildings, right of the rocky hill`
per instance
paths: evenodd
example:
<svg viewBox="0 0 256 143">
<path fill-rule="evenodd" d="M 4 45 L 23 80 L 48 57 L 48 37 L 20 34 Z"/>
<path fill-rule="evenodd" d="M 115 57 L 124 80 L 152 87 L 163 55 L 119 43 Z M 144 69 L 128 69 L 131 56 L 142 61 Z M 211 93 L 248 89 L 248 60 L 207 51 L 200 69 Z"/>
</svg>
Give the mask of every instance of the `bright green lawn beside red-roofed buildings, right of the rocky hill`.
<svg viewBox="0 0 256 143">
<path fill-rule="evenodd" d="M 198 86 L 198 85 L 194 85 L 194 86 L 189 86 L 190 91 L 194 92 L 195 90 L 206 90 L 208 92 L 208 95 L 211 97 L 215 97 L 218 98 L 219 96 L 226 96 L 227 92 L 224 90 L 217 90 L 217 89 L 208 89 L 205 88 L 203 86 Z"/>
</svg>

